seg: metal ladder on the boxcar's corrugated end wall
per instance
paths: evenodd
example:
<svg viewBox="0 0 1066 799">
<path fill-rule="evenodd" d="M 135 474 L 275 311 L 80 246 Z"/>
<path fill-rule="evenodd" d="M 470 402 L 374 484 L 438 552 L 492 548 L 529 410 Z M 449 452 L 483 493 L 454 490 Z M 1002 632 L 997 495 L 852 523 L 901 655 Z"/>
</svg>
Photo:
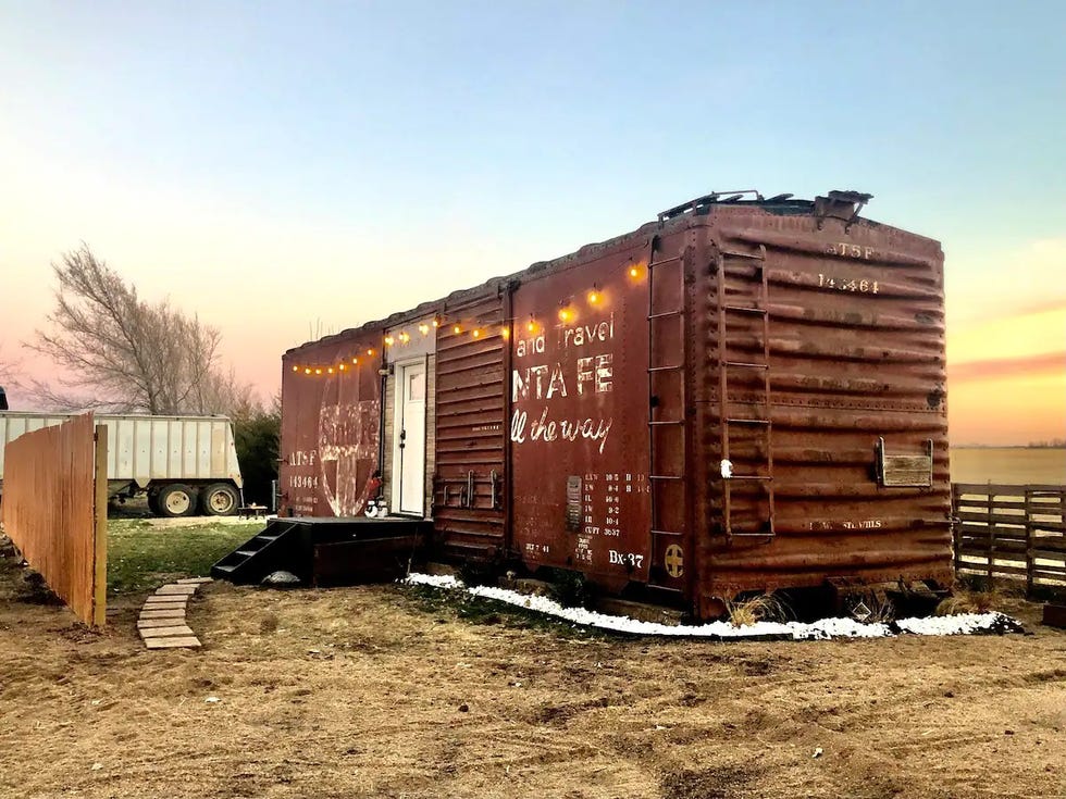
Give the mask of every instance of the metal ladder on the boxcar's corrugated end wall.
<svg viewBox="0 0 1066 799">
<path fill-rule="evenodd" d="M 726 284 L 730 277 L 747 282 L 747 272 L 755 267 L 758 283 L 758 296 L 754 305 L 737 304 L 730 302 L 727 296 Z M 737 267 L 743 270 L 743 274 L 737 275 Z M 731 271 L 732 270 L 732 271 Z M 770 421 L 770 310 L 769 290 L 766 274 L 766 247 L 759 245 L 758 253 L 731 252 L 722 250 L 718 254 L 718 376 L 719 376 L 719 423 L 721 425 L 722 460 L 731 461 L 730 457 L 730 432 L 733 428 L 744 428 L 751 430 L 752 438 L 761 444 L 764 458 L 761 463 L 758 457 L 752 459 L 752 472 L 749 474 L 734 474 L 731 477 L 722 477 L 722 522 L 724 533 L 729 537 L 770 537 L 774 536 L 774 512 L 773 512 L 773 423 Z M 763 352 L 761 360 L 730 360 L 729 344 L 730 324 L 729 320 L 734 320 L 734 325 L 739 319 L 752 316 L 763 321 Z M 755 408 L 761 407 L 763 414 L 756 411 L 751 416 L 730 415 L 729 402 L 729 382 L 730 374 L 737 371 L 757 371 L 763 375 L 760 397 L 757 402 L 746 404 Z M 743 402 L 734 404 L 745 404 Z M 761 469 L 760 469 L 761 466 Z M 758 529 L 734 530 L 733 525 L 737 520 L 733 508 L 733 485 L 736 483 L 746 485 L 761 486 L 766 496 L 767 517 L 756 519 Z"/>
</svg>

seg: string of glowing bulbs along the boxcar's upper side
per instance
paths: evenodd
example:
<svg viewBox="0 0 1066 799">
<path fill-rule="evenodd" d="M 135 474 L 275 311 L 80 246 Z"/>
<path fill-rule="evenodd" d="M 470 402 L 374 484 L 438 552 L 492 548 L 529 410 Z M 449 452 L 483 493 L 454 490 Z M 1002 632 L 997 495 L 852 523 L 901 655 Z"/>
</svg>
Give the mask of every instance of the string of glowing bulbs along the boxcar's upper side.
<svg viewBox="0 0 1066 799">
<path fill-rule="evenodd" d="M 643 263 L 634 263 L 627 266 L 627 274 L 632 280 L 642 278 L 645 272 L 646 266 Z M 594 283 L 592 288 L 590 288 L 585 294 L 584 300 L 590 308 L 596 308 L 604 305 L 607 297 L 605 291 L 599 287 L 599 284 Z M 545 319 L 547 319 L 549 315 L 550 314 L 531 313 L 529 319 L 525 320 L 525 332 L 531 336 L 538 335 L 545 328 Z M 578 309 L 573 297 L 569 297 L 559 303 L 558 310 L 556 311 L 556 316 L 558 317 L 559 322 L 565 325 L 573 324 L 578 320 Z M 481 339 L 498 334 L 501 338 L 507 340 L 511 336 L 512 325 L 518 325 L 520 322 L 521 320 L 516 317 L 487 323 L 480 320 L 449 320 L 446 316 L 438 314 L 432 320 L 419 322 L 417 325 L 414 323 L 410 324 L 414 325 L 413 329 L 417 330 L 417 333 L 423 338 L 429 336 L 431 330 L 435 330 L 436 328 L 445 325 L 450 325 L 451 334 L 455 336 L 469 335 L 472 339 Z M 382 338 L 382 351 L 395 347 L 404 347 L 405 345 L 409 345 L 412 340 L 414 340 L 414 337 L 406 329 L 406 327 L 399 329 L 398 332 L 389 330 Z M 368 348 L 358 354 L 345 357 L 331 363 L 294 363 L 290 369 L 294 373 L 308 377 L 321 377 L 350 373 L 363 365 L 372 366 L 376 370 L 377 364 L 374 360 L 374 355 L 376 354 L 379 354 L 377 350 L 374 348 Z"/>
</svg>

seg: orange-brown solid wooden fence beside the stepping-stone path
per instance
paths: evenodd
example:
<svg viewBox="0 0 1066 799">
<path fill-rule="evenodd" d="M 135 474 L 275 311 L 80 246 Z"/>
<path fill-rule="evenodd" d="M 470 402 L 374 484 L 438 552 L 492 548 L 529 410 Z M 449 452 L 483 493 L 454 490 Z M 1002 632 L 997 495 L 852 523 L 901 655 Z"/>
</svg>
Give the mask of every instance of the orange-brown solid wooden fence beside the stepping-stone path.
<svg viewBox="0 0 1066 799">
<path fill-rule="evenodd" d="M 86 624 L 103 626 L 108 583 L 108 433 L 92 414 L 9 441 L 4 533 Z"/>
</svg>

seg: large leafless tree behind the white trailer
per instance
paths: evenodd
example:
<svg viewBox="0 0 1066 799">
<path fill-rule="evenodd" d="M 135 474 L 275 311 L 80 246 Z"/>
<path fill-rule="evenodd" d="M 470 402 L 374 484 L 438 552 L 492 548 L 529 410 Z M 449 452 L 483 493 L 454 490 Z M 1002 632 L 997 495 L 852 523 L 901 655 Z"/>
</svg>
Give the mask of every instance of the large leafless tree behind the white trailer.
<svg viewBox="0 0 1066 799">
<path fill-rule="evenodd" d="M 59 280 L 52 329 L 38 330 L 27 346 L 50 357 L 63 376 L 61 388 L 35 384 L 39 401 L 152 414 L 230 410 L 240 389 L 232 373 L 219 371 L 216 328 L 166 300 L 140 299 L 84 242 L 52 270 Z"/>
</svg>

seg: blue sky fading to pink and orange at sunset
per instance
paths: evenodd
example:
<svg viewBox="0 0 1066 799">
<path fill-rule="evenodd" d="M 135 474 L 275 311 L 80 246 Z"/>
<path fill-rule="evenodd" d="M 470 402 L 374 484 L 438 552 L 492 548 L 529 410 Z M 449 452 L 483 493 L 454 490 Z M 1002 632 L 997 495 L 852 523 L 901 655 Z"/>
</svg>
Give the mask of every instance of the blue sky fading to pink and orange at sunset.
<svg viewBox="0 0 1066 799">
<path fill-rule="evenodd" d="M 85 241 L 281 355 L 710 190 L 943 242 L 954 444 L 1066 438 L 1066 3 L 0 0 L 0 362 Z M 27 401 L 17 391 L 13 405 Z"/>
</svg>

